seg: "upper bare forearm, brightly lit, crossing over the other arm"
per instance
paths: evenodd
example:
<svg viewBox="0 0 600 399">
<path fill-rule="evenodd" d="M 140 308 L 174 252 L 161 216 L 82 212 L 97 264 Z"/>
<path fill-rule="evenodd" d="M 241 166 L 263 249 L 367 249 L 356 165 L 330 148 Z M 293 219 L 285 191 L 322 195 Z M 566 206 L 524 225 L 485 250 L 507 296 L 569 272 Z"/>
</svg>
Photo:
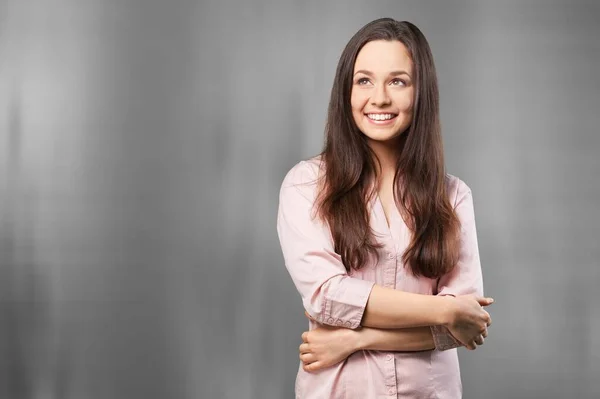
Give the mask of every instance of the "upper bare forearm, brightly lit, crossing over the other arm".
<svg viewBox="0 0 600 399">
<path fill-rule="evenodd" d="M 373 286 L 361 325 L 373 328 L 412 328 L 448 323 L 448 298 Z"/>
</svg>

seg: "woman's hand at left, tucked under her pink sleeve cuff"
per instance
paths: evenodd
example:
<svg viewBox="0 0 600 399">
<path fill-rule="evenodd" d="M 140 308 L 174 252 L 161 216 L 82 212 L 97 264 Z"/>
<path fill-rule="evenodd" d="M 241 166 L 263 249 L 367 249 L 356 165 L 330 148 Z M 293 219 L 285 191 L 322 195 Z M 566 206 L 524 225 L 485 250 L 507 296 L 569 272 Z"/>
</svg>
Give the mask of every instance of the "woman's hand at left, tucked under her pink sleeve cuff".
<svg viewBox="0 0 600 399">
<path fill-rule="evenodd" d="M 306 312 L 304 314 L 311 318 Z M 354 330 L 328 325 L 320 325 L 302 333 L 302 344 L 299 347 L 302 368 L 309 372 L 333 366 L 357 350 Z"/>
</svg>

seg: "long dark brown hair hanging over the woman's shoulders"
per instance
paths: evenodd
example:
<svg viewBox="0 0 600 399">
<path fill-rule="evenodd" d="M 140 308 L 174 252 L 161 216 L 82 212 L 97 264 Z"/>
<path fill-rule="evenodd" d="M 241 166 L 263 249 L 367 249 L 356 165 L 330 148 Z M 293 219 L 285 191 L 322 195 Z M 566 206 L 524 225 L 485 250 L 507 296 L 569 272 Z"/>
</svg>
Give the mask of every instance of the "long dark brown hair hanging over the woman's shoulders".
<svg viewBox="0 0 600 399">
<path fill-rule="evenodd" d="M 331 229 L 335 251 L 346 269 L 379 259 L 381 244 L 369 226 L 368 202 L 375 194 L 375 154 L 352 117 L 350 96 L 356 57 L 373 40 L 399 40 L 414 65 L 412 122 L 402 133 L 394 178 L 394 197 L 412 232 L 402 260 L 416 276 L 437 278 L 458 261 L 460 222 L 446 188 L 439 122 L 439 93 L 433 56 L 421 31 L 391 18 L 372 21 L 348 42 L 340 56 L 331 90 L 325 145 L 325 174 L 316 209 Z"/>
</svg>

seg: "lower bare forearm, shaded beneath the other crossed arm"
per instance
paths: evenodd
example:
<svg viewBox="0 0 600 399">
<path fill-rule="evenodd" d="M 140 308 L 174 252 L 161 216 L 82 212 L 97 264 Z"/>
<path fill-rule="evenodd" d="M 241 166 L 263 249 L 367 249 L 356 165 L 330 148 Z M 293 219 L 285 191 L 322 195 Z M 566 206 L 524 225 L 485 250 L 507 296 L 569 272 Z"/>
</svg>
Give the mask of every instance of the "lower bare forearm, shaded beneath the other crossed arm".
<svg viewBox="0 0 600 399">
<path fill-rule="evenodd" d="M 414 352 L 435 349 L 429 327 L 403 329 L 363 327 L 354 332 L 357 350 Z"/>
</svg>

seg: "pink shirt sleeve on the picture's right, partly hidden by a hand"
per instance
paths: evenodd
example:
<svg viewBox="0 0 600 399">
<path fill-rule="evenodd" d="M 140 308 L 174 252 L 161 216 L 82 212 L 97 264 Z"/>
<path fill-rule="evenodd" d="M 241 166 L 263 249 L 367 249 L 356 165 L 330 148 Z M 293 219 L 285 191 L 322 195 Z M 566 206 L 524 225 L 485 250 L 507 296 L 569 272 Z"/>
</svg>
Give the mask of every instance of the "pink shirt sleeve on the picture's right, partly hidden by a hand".
<svg viewBox="0 0 600 399">
<path fill-rule="evenodd" d="M 455 212 L 460 220 L 460 255 L 454 269 L 438 280 L 438 295 L 478 295 L 483 296 L 483 278 L 473 196 L 469 187 L 458 181 Z M 436 349 L 448 350 L 463 346 L 444 326 L 432 326 L 433 341 Z"/>
</svg>

